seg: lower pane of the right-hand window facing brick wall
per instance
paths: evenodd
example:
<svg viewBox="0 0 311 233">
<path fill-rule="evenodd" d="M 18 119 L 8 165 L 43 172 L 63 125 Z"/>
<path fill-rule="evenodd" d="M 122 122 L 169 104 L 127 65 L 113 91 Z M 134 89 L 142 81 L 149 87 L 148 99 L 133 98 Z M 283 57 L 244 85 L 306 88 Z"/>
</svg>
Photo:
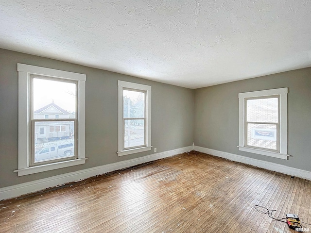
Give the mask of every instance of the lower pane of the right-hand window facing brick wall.
<svg viewBox="0 0 311 233">
<path fill-rule="evenodd" d="M 247 146 L 277 150 L 276 138 L 275 124 L 247 124 Z"/>
</svg>

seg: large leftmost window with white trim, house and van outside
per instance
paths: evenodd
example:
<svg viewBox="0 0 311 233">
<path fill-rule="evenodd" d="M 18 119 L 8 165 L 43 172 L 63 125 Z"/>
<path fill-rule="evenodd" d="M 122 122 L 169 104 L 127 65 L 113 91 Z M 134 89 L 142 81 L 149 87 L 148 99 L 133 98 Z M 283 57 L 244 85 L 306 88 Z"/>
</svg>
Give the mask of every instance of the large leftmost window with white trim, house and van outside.
<svg viewBox="0 0 311 233">
<path fill-rule="evenodd" d="M 17 70 L 18 176 L 85 164 L 86 75 L 24 64 Z M 72 147 L 60 150 L 64 144 Z"/>
</svg>

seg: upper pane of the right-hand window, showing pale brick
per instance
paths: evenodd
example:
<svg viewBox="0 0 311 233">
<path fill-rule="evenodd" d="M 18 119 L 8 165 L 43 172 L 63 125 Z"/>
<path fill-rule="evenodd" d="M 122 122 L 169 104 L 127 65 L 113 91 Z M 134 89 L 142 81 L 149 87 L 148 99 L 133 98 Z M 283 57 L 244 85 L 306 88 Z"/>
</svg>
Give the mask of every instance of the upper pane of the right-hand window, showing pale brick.
<svg viewBox="0 0 311 233">
<path fill-rule="evenodd" d="M 278 122 L 278 98 L 247 100 L 247 121 Z"/>
</svg>

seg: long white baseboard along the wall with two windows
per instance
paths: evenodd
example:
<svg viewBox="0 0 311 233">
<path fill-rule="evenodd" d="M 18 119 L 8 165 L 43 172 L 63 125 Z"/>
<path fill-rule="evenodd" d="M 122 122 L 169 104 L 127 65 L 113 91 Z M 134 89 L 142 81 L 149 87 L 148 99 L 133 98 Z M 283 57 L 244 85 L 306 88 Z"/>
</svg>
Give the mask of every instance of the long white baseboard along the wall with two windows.
<svg viewBox="0 0 311 233">
<path fill-rule="evenodd" d="M 96 166 L 84 170 L 52 176 L 45 179 L 0 188 L 0 200 L 19 197 L 24 194 L 33 193 L 50 187 L 60 186 L 65 183 L 81 181 L 92 176 L 101 175 L 107 172 L 123 169 L 130 166 L 135 166 L 138 164 L 147 163 L 150 161 L 155 161 L 157 159 L 170 157 L 175 154 L 189 152 L 190 150 L 193 150 L 193 146 L 183 147 L 175 150 L 168 150 L 164 152 L 147 155 L 144 157 L 125 160 L 103 166 Z"/>
</svg>

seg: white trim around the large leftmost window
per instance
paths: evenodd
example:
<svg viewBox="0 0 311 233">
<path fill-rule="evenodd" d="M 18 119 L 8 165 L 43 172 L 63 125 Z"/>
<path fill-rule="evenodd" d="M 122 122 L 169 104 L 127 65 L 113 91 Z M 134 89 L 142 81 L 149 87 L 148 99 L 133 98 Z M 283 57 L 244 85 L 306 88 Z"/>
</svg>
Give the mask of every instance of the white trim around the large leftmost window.
<svg viewBox="0 0 311 233">
<path fill-rule="evenodd" d="M 68 71 L 17 64 L 18 71 L 18 176 L 54 170 L 58 168 L 86 163 L 85 154 L 85 85 L 86 75 Z M 78 81 L 78 147 L 77 159 L 51 164 L 30 166 L 30 75 L 42 75 L 54 78 Z"/>
</svg>

